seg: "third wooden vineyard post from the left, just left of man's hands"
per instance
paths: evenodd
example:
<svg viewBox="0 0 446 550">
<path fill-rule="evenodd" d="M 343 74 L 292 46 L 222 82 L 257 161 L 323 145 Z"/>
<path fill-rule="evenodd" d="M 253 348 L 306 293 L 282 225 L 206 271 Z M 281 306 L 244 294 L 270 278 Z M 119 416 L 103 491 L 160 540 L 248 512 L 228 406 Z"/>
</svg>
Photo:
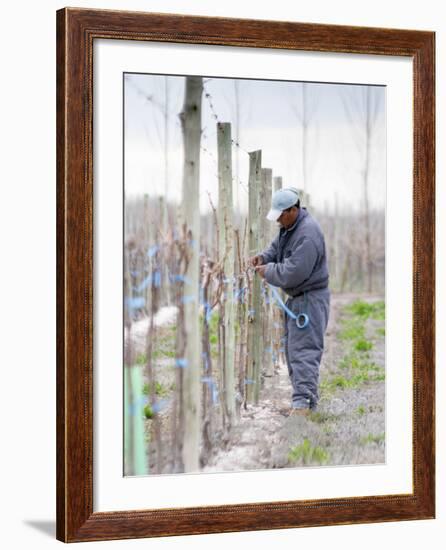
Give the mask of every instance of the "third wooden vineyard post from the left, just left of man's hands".
<svg viewBox="0 0 446 550">
<path fill-rule="evenodd" d="M 249 153 L 249 207 L 248 207 L 248 235 L 249 255 L 253 256 L 260 249 L 260 170 L 262 152 Z M 253 273 L 252 289 L 248 311 L 248 372 L 245 383 L 247 401 L 258 402 L 260 393 L 260 368 L 262 348 L 262 312 L 261 278 Z"/>
</svg>

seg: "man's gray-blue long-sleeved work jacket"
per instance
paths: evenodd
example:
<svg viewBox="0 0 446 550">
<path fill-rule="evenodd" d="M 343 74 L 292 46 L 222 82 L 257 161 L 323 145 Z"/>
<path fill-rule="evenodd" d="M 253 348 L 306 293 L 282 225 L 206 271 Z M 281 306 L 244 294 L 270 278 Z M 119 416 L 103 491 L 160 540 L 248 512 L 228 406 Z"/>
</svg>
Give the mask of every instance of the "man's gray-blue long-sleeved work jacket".
<svg viewBox="0 0 446 550">
<path fill-rule="evenodd" d="M 270 246 L 261 252 L 265 280 L 289 296 L 328 286 L 325 239 L 318 222 L 305 207 L 295 223 L 281 227 Z"/>
</svg>

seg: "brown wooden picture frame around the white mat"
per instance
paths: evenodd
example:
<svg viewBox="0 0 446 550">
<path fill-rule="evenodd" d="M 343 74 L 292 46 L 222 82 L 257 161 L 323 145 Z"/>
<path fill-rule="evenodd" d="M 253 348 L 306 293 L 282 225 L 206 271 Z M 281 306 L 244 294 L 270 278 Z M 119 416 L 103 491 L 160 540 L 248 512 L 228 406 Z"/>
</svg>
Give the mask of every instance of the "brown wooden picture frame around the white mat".
<svg viewBox="0 0 446 550">
<path fill-rule="evenodd" d="M 93 512 L 93 42 L 407 56 L 413 62 L 413 492 Z M 435 510 L 432 32 L 65 8 L 57 12 L 57 538 L 65 542 L 426 519 Z"/>
</svg>

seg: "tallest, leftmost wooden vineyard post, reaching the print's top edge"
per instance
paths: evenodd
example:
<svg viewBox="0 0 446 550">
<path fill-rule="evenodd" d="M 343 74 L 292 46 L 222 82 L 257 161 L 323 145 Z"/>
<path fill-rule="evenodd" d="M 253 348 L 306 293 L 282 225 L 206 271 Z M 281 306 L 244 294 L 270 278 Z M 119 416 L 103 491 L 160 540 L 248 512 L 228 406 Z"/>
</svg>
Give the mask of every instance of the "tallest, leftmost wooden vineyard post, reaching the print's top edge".
<svg viewBox="0 0 446 550">
<path fill-rule="evenodd" d="M 185 333 L 182 412 L 184 414 L 183 464 L 186 472 L 199 470 L 201 418 L 201 342 L 199 318 L 200 283 L 200 138 L 203 79 L 186 77 L 180 114 L 184 143 L 182 223 L 187 227 L 188 261 L 184 283 Z"/>
</svg>

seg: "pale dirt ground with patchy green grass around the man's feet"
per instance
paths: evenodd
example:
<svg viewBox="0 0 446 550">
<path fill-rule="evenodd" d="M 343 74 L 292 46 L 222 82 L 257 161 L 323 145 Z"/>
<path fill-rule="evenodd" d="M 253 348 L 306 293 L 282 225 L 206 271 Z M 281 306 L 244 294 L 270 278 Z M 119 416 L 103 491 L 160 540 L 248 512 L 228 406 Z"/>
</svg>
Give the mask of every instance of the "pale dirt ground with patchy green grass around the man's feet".
<svg viewBox="0 0 446 550">
<path fill-rule="evenodd" d="M 213 450 L 202 472 L 385 462 L 385 321 L 363 318 L 359 343 L 340 332 L 350 327 L 344 324 L 351 320 L 345 306 L 358 299 L 382 304 L 380 296 L 331 296 L 317 410 L 308 417 L 284 414 L 291 383 L 286 364 L 280 363 L 273 376 L 263 378 L 259 404 L 240 408 L 229 441 L 224 441 L 222 428 L 215 427 Z M 168 322 L 173 319 L 170 312 Z M 142 323 L 133 334 L 139 348 Z M 353 343 L 359 352 L 352 352 Z M 358 357 L 359 366 L 354 363 Z M 169 408 L 160 413 L 167 430 Z"/>
</svg>

